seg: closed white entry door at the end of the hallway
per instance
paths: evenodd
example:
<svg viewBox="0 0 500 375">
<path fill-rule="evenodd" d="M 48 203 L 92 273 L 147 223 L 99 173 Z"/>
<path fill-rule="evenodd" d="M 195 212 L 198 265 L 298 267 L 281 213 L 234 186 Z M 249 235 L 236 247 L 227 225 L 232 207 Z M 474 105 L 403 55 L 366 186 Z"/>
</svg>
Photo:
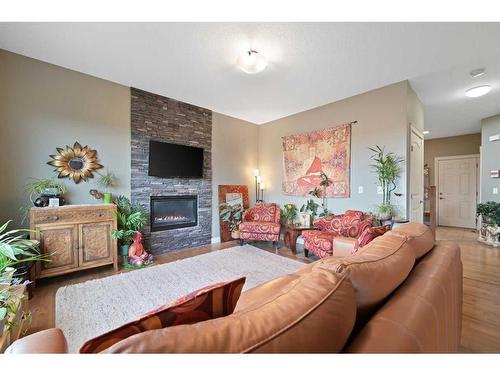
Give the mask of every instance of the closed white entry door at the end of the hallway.
<svg viewBox="0 0 500 375">
<path fill-rule="evenodd" d="M 437 161 L 438 224 L 475 228 L 477 156 Z"/>
</svg>

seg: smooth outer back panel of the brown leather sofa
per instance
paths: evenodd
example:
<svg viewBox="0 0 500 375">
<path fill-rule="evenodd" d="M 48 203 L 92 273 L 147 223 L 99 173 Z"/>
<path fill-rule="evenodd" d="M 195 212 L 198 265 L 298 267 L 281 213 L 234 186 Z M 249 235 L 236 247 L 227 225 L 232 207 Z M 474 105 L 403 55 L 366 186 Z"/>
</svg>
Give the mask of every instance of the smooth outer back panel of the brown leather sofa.
<svg viewBox="0 0 500 375">
<path fill-rule="evenodd" d="M 351 353 L 451 353 L 460 345 L 462 262 L 437 245 L 347 347 Z"/>
</svg>

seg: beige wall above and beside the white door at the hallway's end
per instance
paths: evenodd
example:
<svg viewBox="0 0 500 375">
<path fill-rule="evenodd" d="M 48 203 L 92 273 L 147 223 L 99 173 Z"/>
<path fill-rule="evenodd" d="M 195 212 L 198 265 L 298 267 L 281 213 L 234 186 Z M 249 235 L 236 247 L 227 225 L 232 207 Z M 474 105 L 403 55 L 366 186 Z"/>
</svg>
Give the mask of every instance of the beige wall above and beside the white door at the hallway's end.
<svg viewBox="0 0 500 375">
<path fill-rule="evenodd" d="M 429 166 L 429 182 L 434 185 L 434 159 L 440 156 L 479 154 L 481 134 L 429 139 L 424 142 L 424 164 Z"/>
</svg>

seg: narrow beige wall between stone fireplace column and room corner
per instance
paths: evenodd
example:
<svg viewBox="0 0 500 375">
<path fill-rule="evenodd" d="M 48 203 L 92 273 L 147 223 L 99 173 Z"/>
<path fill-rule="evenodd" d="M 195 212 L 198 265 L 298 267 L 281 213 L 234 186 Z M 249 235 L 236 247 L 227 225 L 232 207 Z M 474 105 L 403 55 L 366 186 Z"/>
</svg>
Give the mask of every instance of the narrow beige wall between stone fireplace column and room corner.
<svg viewBox="0 0 500 375">
<path fill-rule="evenodd" d="M 248 185 L 250 204 L 255 202 L 253 170 L 258 165 L 258 131 L 253 123 L 212 114 L 212 237 L 219 231 L 219 185 Z"/>
</svg>

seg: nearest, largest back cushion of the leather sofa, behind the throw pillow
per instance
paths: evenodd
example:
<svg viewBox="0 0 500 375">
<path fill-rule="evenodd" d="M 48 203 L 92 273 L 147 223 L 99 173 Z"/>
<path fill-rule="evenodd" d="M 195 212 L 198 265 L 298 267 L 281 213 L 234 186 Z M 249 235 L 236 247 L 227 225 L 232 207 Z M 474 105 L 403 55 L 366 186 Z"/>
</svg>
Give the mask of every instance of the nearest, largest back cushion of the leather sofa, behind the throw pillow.
<svg viewBox="0 0 500 375">
<path fill-rule="evenodd" d="M 339 352 L 356 317 L 354 290 L 346 275 L 318 269 L 294 280 L 285 278 L 287 285 L 278 288 L 268 288 L 268 283 L 254 288 L 258 303 L 232 315 L 140 333 L 105 352 Z"/>
</svg>

